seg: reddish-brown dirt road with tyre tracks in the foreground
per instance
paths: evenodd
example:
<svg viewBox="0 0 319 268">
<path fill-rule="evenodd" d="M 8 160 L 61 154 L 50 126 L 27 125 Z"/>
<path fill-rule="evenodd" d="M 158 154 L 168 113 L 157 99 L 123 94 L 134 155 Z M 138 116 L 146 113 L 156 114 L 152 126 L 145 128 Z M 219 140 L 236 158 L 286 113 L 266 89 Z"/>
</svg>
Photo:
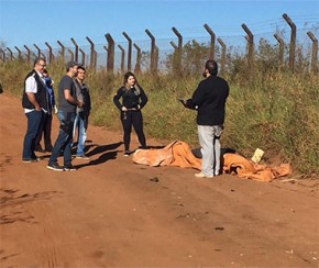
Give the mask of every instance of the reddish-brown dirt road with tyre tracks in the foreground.
<svg viewBox="0 0 319 268">
<path fill-rule="evenodd" d="M 319 265 L 318 179 L 207 180 L 135 165 L 123 157 L 121 134 L 96 126 L 90 160 L 56 172 L 46 169 L 48 154 L 22 163 L 20 100 L 1 94 L 0 114 L 0 267 Z M 54 141 L 57 127 L 54 118 Z"/>
</svg>

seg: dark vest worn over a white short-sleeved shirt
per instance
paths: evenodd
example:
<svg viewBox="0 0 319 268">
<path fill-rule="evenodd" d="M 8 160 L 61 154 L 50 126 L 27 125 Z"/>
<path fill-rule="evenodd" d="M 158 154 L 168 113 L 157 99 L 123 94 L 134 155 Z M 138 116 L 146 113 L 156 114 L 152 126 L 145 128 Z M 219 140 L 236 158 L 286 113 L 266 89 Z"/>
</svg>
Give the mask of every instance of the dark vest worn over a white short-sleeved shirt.
<svg viewBox="0 0 319 268">
<path fill-rule="evenodd" d="M 47 110 L 47 92 L 44 82 L 41 80 L 37 72 L 33 69 L 30 71 L 25 79 L 24 79 L 24 89 L 23 89 L 23 96 L 22 96 L 22 107 L 25 109 L 35 109 L 35 107 L 30 102 L 26 93 L 25 93 L 25 80 L 33 76 L 36 81 L 37 92 L 34 93 L 36 101 L 38 102 L 40 107 Z"/>
</svg>

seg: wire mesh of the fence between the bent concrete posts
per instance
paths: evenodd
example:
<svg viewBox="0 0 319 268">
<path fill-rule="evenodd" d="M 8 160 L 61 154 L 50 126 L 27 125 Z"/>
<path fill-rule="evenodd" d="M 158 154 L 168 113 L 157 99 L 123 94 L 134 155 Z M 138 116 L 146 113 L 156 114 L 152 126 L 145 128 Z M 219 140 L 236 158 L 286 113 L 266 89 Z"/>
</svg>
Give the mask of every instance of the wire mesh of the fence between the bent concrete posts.
<svg viewBox="0 0 319 268">
<path fill-rule="evenodd" d="M 307 35 L 308 32 L 311 32 L 315 36 L 318 36 L 319 34 L 319 20 L 318 16 L 307 16 L 307 20 L 312 20 L 311 23 L 305 22 L 305 18 L 298 16 L 295 22 L 300 24 L 304 22 L 301 29 L 297 29 L 297 45 L 301 47 L 302 53 L 305 55 L 311 55 L 311 47 L 312 47 L 312 41 Z M 317 20 L 317 21 L 316 21 Z M 250 25 L 249 25 L 250 26 Z M 246 46 L 248 46 L 248 40 L 246 36 L 243 34 L 243 31 L 240 31 L 240 27 L 228 27 L 226 29 L 223 25 L 215 25 L 219 31 L 229 33 L 228 35 L 221 35 L 216 36 L 219 37 L 227 46 L 227 53 L 237 53 L 239 55 L 244 55 L 246 53 Z M 254 36 L 254 47 L 255 49 L 258 46 L 258 42 L 261 40 L 266 41 L 271 45 L 276 45 L 277 41 L 274 37 L 274 34 L 278 34 L 283 42 L 287 45 L 290 42 L 290 34 L 292 29 L 284 20 L 272 20 L 272 21 L 262 21 L 258 23 L 255 23 L 250 26 L 251 32 Z M 190 43 L 193 41 L 196 41 L 197 43 L 205 45 L 209 47 L 211 42 L 211 36 L 205 32 L 205 30 L 199 29 L 184 29 L 184 36 L 183 36 L 183 45 Z M 239 34 L 241 33 L 241 34 Z M 172 45 L 172 42 L 174 44 L 178 44 L 178 38 L 173 33 L 165 34 L 164 33 L 156 33 L 161 36 L 161 38 L 156 38 L 156 47 L 158 48 L 158 60 L 157 60 L 157 69 L 160 71 L 166 70 L 165 60 L 167 59 L 168 55 L 172 55 L 175 52 L 174 46 Z M 183 33 L 182 33 L 183 34 Z M 155 34 L 154 34 L 155 35 Z M 146 36 L 144 34 L 144 36 Z M 87 37 L 88 38 L 88 37 Z M 91 63 L 91 45 L 88 43 L 88 40 L 84 38 L 78 42 L 79 53 L 78 53 L 78 62 L 82 63 L 86 66 L 89 66 Z M 96 57 L 96 68 L 106 68 L 107 66 L 107 58 L 108 58 L 108 42 L 102 37 L 97 38 L 98 42 L 94 43 L 94 49 L 95 49 L 95 57 Z M 133 44 L 135 44 L 138 47 L 141 48 L 142 54 L 144 55 L 143 60 L 141 62 L 141 69 L 142 71 L 150 69 L 150 55 L 151 55 L 151 40 L 150 38 L 143 38 L 143 37 L 136 37 L 135 41 L 132 41 Z M 56 43 L 57 44 L 57 43 Z M 64 53 L 63 47 L 58 45 L 52 46 L 52 54 L 54 55 L 54 58 L 63 57 L 64 62 L 68 62 L 75 58 L 75 45 L 74 43 L 69 41 L 62 42 L 64 46 Z M 25 46 L 24 46 L 25 47 Z M 36 46 L 33 44 L 33 46 L 26 46 L 30 49 L 30 62 L 33 62 L 36 56 L 44 56 L 47 59 L 50 58 L 50 49 L 46 44 Z M 36 48 L 37 47 L 37 48 Z M 18 48 L 18 47 L 15 47 Z M 38 49 L 40 48 L 40 49 Z M 216 42 L 216 49 L 220 49 L 220 44 Z M 124 37 L 118 37 L 118 40 L 114 41 L 114 71 L 121 70 L 121 65 L 123 65 L 122 60 L 124 62 L 124 68 L 128 69 L 128 52 L 129 52 L 129 43 L 128 40 Z M 10 49 L 7 47 L 3 53 L 3 59 L 18 59 L 19 57 L 22 59 L 26 59 L 26 49 Z M 287 54 L 287 51 L 286 51 Z M 124 58 L 122 58 L 124 57 Z M 218 58 L 216 58 L 219 60 Z M 131 69 L 134 69 L 138 60 L 138 49 L 135 47 L 132 47 L 132 54 L 131 54 Z M 48 60 L 50 62 L 50 60 Z"/>
</svg>

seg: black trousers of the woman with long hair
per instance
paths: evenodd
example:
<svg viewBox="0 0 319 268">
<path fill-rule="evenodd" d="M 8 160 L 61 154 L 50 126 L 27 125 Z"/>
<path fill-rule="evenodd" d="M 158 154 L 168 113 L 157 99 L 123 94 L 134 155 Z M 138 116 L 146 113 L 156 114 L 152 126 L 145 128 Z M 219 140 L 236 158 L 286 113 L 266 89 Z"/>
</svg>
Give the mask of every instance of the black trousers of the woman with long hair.
<svg viewBox="0 0 319 268">
<path fill-rule="evenodd" d="M 146 138 L 143 132 L 143 116 L 141 111 L 121 112 L 121 121 L 124 130 L 124 148 L 130 149 L 132 125 L 138 135 L 142 148 L 146 148 Z"/>
</svg>

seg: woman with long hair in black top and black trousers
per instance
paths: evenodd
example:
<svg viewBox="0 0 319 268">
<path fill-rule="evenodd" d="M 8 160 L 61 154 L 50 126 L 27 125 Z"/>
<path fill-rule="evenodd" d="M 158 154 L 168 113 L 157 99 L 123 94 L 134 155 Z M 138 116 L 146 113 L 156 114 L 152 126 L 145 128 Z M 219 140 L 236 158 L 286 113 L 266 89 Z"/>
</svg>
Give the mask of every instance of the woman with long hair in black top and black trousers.
<svg viewBox="0 0 319 268">
<path fill-rule="evenodd" d="M 121 121 L 124 130 L 124 156 L 130 155 L 130 142 L 132 125 L 138 134 L 141 148 L 146 148 L 146 139 L 143 132 L 142 108 L 147 102 L 147 97 L 138 83 L 135 76 L 129 71 L 124 75 L 124 86 L 121 87 L 113 98 L 113 102 L 121 111 Z M 120 99 L 122 98 L 122 103 Z"/>
</svg>

